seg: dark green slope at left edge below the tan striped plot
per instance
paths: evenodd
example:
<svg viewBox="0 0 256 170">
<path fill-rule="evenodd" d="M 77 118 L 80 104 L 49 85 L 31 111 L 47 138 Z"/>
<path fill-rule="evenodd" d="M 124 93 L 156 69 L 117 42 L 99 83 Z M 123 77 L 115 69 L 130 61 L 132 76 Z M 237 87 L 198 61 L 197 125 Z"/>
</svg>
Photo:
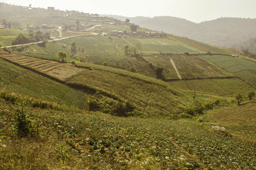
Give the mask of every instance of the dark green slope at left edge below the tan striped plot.
<svg viewBox="0 0 256 170">
<path fill-rule="evenodd" d="M 85 94 L 81 91 L 70 89 L 64 84 L 57 83 L 28 69 L 17 67 L 2 59 L 0 59 L 0 66 L 1 89 L 67 106 L 83 107 L 86 101 Z M 69 97 L 67 98 L 67 96 Z"/>
</svg>

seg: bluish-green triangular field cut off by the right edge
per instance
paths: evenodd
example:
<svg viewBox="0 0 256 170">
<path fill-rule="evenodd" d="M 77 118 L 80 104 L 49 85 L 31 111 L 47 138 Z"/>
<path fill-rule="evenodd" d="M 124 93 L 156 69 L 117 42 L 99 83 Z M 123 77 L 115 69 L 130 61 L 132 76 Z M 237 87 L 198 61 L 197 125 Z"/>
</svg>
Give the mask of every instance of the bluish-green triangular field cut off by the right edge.
<svg viewBox="0 0 256 170">
<path fill-rule="evenodd" d="M 225 55 L 205 55 L 207 60 L 256 87 L 256 63 Z"/>
</svg>

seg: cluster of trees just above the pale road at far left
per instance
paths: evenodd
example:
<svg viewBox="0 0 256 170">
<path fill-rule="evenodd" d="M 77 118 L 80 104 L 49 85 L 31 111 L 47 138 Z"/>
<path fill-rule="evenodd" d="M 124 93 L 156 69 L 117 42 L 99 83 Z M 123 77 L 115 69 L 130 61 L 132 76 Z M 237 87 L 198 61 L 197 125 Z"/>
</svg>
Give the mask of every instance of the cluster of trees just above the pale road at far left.
<svg viewBox="0 0 256 170">
<path fill-rule="evenodd" d="M 20 45 L 43 40 L 50 40 L 50 33 L 43 34 L 40 30 L 38 30 L 36 34 L 29 33 L 28 35 L 23 35 L 20 33 L 17 38 L 11 42 L 11 45 Z"/>
</svg>

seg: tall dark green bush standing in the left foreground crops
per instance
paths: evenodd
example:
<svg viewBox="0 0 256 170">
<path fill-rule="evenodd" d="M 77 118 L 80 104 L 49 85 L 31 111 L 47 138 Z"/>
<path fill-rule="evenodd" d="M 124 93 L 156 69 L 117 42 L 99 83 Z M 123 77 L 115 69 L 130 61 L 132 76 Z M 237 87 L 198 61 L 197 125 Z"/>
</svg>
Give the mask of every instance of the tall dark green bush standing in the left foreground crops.
<svg viewBox="0 0 256 170">
<path fill-rule="evenodd" d="M 28 118 L 28 111 L 26 108 L 26 100 L 20 98 L 16 101 L 16 113 L 14 116 L 14 135 L 18 137 L 28 137 L 31 135 L 32 123 L 31 119 Z"/>
</svg>

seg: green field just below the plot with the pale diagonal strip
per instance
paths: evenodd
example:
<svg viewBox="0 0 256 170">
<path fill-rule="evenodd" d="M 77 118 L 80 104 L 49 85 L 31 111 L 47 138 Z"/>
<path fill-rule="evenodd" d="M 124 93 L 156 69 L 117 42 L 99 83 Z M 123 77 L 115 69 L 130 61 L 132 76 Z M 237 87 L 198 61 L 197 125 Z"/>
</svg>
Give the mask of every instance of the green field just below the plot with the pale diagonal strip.
<svg viewBox="0 0 256 170">
<path fill-rule="evenodd" d="M 256 90 L 252 86 L 237 78 L 178 80 L 170 81 L 169 83 L 184 90 L 218 96 L 233 97 L 236 93 L 240 93 L 245 96 L 249 91 Z"/>
</svg>

